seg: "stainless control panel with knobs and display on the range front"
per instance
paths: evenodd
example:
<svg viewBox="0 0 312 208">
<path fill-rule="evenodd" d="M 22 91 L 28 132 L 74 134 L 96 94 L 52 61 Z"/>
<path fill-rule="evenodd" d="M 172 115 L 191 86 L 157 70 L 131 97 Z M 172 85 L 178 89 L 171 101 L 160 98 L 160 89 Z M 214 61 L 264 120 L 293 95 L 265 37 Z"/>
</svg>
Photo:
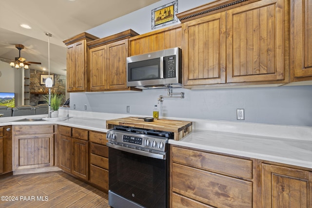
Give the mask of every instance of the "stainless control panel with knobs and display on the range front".
<svg viewBox="0 0 312 208">
<path fill-rule="evenodd" d="M 111 142 L 134 147 L 146 148 L 157 151 L 166 151 L 168 139 L 160 136 L 147 136 L 138 133 L 125 133 L 118 130 L 110 130 L 106 134 L 106 139 Z"/>
</svg>

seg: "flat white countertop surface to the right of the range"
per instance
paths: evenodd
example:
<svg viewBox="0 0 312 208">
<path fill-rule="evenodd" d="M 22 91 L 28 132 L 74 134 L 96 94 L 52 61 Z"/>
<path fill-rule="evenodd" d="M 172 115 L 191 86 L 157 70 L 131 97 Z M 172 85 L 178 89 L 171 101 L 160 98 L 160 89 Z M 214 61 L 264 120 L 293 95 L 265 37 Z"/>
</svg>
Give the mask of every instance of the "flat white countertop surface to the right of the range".
<svg viewBox="0 0 312 208">
<path fill-rule="evenodd" d="M 231 132 L 193 130 L 169 144 L 269 160 L 312 169 L 312 141 Z"/>
</svg>

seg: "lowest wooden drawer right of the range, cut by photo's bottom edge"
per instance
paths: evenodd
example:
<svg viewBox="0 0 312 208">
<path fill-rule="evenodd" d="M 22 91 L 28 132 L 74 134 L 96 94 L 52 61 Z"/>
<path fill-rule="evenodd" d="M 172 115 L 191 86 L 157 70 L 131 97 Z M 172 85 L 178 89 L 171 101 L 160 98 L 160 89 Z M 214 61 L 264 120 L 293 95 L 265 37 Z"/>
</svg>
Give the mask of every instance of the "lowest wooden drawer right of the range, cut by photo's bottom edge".
<svg viewBox="0 0 312 208">
<path fill-rule="evenodd" d="M 185 196 L 173 193 L 172 194 L 172 207 L 173 208 L 214 208 L 209 205 L 197 202 Z"/>
</svg>

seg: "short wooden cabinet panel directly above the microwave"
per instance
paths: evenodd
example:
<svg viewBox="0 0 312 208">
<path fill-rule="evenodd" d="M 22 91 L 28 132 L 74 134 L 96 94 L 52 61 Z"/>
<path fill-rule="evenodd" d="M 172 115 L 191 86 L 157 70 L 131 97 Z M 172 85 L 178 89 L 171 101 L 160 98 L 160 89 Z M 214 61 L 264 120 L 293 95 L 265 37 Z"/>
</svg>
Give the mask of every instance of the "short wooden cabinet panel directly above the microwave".
<svg viewBox="0 0 312 208">
<path fill-rule="evenodd" d="M 181 38 L 182 29 L 180 24 L 130 38 L 130 56 L 169 48 L 181 48 Z"/>
</svg>

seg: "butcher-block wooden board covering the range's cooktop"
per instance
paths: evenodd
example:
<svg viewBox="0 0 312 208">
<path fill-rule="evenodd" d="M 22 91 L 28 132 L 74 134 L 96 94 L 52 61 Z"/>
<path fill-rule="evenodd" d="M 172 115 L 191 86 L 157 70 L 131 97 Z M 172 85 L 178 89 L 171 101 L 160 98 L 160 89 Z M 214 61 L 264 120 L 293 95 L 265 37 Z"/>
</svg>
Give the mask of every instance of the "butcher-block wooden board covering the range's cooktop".
<svg viewBox="0 0 312 208">
<path fill-rule="evenodd" d="M 126 117 L 106 120 L 106 128 L 112 129 L 115 125 L 118 125 L 165 132 L 174 132 L 175 140 L 180 140 L 184 136 L 192 132 L 192 122 L 190 121 L 159 119 L 154 120 L 153 122 L 146 122 L 143 119 L 139 118 L 140 117 Z"/>
</svg>

